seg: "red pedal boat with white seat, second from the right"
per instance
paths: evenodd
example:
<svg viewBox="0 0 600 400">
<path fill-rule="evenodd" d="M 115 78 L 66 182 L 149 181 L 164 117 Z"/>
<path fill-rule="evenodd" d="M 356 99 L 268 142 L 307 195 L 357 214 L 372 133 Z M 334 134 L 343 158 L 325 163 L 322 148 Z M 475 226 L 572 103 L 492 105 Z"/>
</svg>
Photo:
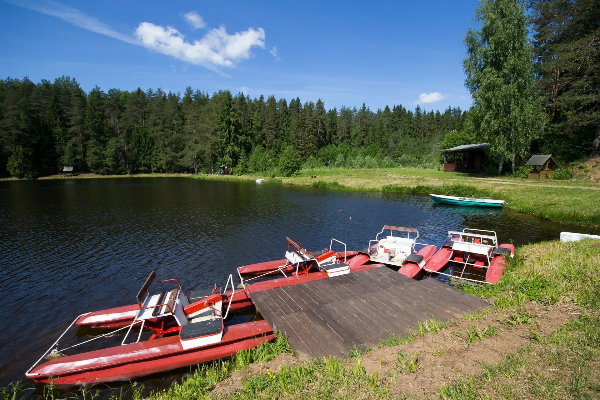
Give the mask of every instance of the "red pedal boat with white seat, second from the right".
<svg viewBox="0 0 600 400">
<path fill-rule="evenodd" d="M 389 235 L 379 238 L 385 230 Z M 394 236 L 394 231 L 406 232 L 406 237 Z M 410 237 L 410 234 L 415 234 Z M 414 228 L 404 228 L 392 225 L 383 225 L 383 229 L 377 233 L 375 239 L 369 240 L 367 246 L 371 261 L 398 267 L 398 272 L 409 278 L 415 278 L 427 261 L 436 252 L 436 246 L 418 243 L 419 231 Z M 417 251 L 416 247 L 420 247 Z"/>
</svg>

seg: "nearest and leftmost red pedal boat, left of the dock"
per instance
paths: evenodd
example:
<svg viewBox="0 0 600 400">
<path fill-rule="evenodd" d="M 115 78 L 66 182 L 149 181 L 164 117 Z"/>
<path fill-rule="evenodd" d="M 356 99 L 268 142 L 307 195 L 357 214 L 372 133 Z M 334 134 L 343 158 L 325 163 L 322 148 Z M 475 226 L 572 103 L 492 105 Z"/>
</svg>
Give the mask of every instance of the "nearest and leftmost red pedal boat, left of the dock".
<svg viewBox="0 0 600 400">
<path fill-rule="evenodd" d="M 198 299 L 193 298 L 194 301 L 190 302 L 190 298 L 182 294 L 181 285 L 176 279 L 156 281 L 155 277 L 152 271 L 137 293 L 137 310 L 129 324 L 59 350 L 61 339 L 68 330 L 90 313 L 80 315 L 29 368 L 25 373 L 26 377 L 58 385 L 130 380 L 229 357 L 241 349 L 256 347 L 274 338 L 266 321 L 225 324 L 232 302 L 228 303 L 227 310 L 223 313 L 224 295 L 217 291 L 216 285 L 210 293 L 205 293 L 205 296 Z M 176 287 L 151 294 L 152 282 L 175 282 Z M 227 285 L 229 283 L 232 285 L 233 298 L 235 288 L 231 275 Z M 130 339 L 134 328 L 139 328 L 139 333 Z M 127 331 L 121 345 L 70 356 L 63 354 L 73 347 L 112 336 L 125 329 Z M 148 330 L 151 336 L 140 341 L 142 333 Z M 41 363 L 44 358 L 48 360 Z"/>
</svg>

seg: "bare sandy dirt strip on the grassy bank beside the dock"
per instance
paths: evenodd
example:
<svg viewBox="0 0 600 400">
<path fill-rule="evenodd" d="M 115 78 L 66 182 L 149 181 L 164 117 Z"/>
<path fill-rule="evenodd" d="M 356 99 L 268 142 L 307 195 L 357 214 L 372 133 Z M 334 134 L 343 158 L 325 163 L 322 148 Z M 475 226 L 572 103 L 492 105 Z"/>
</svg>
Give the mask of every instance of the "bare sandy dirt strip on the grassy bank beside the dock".
<svg viewBox="0 0 600 400">
<path fill-rule="evenodd" d="M 499 321 L 508 316 L 502 314 L 488 315 L 478 321 L 460 321 L 437 335 L 419 336 L 411 344 L 375 350 L 362 357 L 363 366 L 367 374 L 379 370 L 380 381 L 388 383 L 394 395 L 425 398 L 439 393 L 440 386 L 451 384 L 456 377 L 470 378 L 481 374 L 484 365 L 500 362 L 509 353 L 528 345 L 531 341 L 529 330 L 547 336 L 578 315 L 566 305 L 547 308 L 529 302 L 525 307 L 535 317 L 533 323 L 507 327 Z M 482 331 L 488 324 L 501 330 L 471 343 L 461 336 L 470 326 Z M 417 353 L 416 373 L 409 365 L 403 367 L 401 352 L 409 363 Z"/>
</svg>

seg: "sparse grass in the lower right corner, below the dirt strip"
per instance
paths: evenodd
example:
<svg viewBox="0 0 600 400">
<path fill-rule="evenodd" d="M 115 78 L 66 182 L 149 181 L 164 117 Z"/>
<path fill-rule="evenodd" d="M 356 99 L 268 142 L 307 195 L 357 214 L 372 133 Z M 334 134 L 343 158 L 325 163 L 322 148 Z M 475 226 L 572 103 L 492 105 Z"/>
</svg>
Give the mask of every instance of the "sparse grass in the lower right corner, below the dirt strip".
<svg viewBox="0 0 600 400">
<path fill-rule="evenodd" d="M 440 387 L 436 398 L 596 399 L 600 397 L 600 317 L 584 313 L 475 378 Z M 596 376 L 593 376 L 596 372 Z"/>
</svg>

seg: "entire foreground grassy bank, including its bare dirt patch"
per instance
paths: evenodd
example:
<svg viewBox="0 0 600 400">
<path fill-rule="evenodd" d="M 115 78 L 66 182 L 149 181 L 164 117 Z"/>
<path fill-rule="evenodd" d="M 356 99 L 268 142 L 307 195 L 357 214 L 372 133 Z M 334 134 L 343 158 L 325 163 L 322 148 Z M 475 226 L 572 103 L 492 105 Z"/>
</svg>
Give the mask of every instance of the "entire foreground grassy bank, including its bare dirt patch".
<svg viewBox="0 0 600 400">
<path fill-rule="evenodd" d="M 517 249 L 496 285 L 461 287 L 493 303 L 462 320 L 424 321 L 343 360 L 299 360 L 283 336 L 134 399 L 593 399 L 600 397 L 600 241 Z M 83 390 L 94 399 L 94 390 Z M 18 386 L 0 391 L 23 396 Z M 65 397 L 47 389 L 45 400 Z M 70 395 L 82 393 L 70 393 Z"/>
</svg>

